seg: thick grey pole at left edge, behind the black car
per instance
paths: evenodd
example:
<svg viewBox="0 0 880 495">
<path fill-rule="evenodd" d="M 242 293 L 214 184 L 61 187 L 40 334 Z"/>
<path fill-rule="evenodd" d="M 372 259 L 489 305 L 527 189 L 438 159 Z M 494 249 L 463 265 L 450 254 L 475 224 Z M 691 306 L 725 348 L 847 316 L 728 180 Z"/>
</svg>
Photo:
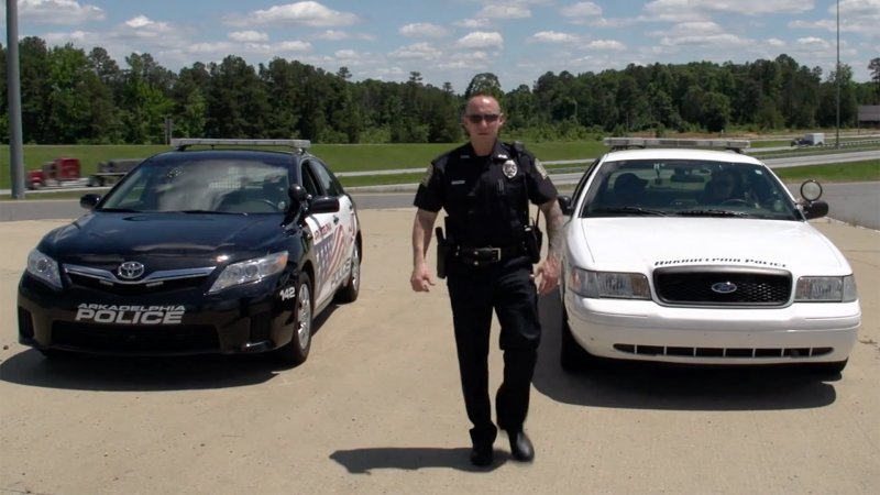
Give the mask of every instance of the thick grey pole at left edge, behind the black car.
<svg viewBox="0 0 880 495">
<path fill-rule="evenodd" d="M 7 0 L 7 88 L 9 91 L 9 174 L 12 199 L 24 199 L 24 158 L 21 135 L 19 77 L 19 2 Z"/>
</svg>

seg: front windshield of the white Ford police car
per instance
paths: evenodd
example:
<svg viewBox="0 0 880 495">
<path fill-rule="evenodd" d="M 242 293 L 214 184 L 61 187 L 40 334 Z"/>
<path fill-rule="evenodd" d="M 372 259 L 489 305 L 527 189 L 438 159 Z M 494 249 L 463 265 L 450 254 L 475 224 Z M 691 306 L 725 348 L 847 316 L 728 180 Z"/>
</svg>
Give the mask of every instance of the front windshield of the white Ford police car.
<svg viewBox="0 0 880 495">
<path fill-rule="evenodd" d="M 737 217 L 798 220 L 783 185 L 763 165 L 697 160 L 601 165 L 580 216 Z"/>
</svg>

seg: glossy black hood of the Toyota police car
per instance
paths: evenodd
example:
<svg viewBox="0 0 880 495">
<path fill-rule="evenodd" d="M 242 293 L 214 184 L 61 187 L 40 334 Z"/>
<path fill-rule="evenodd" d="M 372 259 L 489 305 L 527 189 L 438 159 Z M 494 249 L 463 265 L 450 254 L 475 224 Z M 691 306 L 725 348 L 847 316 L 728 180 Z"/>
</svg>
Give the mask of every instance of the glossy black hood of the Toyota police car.
<svg viewBox="0 0 880 495">
<path fill-rule="evenodd" d="M 168 260 L 165 265 L 213 265 L 219 256 L 265 254 L 284 231 L 280 222 L 280 215 L 90 212 L 50 232 L 40 250 L 63 263 L 154 257 Z"/>
</svg>

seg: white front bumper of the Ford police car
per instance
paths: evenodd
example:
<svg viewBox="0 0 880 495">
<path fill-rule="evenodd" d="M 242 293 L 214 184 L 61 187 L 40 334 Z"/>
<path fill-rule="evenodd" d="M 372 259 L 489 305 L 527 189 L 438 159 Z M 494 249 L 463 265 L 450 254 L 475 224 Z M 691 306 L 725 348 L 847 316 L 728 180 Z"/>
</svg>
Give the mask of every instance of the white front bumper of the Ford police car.
<svg viewBox="0 0 880 495">
<path fill-rule="evenodd" d="M 664 307 L 566 292 L 569 327 L 600 358 L 693 364 L 840 362 L 861 323 L 858 301 L 784 308 Z"/>
</svg>

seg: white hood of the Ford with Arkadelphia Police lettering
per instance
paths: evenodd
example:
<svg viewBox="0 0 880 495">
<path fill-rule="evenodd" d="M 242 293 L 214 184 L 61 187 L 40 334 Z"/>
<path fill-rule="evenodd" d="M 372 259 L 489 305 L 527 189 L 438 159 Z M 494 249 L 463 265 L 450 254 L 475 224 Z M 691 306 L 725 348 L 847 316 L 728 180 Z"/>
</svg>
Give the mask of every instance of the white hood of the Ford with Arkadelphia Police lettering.
<svg viewBox="0 0 880 495">
<path fill-rule="evenodd" d="M 740 218 L 574 219 L 569 252 L 584 268 L 647 273 L 684 265 L 851 273 L 846 258 L 807 222 Z"/>
</svg>

